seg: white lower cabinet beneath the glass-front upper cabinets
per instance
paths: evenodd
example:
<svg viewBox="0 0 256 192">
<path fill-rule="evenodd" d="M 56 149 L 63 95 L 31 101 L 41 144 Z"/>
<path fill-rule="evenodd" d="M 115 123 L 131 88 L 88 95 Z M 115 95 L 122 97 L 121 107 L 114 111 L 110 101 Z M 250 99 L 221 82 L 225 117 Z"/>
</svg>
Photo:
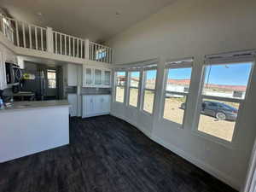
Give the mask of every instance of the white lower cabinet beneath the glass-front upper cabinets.
<svg viewBox="0 0 256 192">
<path fill-rule="evenodd" d="M 93 117 L 110 113 L 110 95 L 83 96 L 82 117 Z"/>
</svg>

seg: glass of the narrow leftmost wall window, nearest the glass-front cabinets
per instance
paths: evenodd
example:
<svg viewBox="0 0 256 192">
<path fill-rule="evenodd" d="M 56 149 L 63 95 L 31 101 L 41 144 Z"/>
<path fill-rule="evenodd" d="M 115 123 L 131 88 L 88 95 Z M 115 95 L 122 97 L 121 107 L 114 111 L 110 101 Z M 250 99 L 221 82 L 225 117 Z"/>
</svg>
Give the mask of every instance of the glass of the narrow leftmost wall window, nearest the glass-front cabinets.
<svg viewBox="0 0 256 192">
<path fill-rule="evenodd" d="M 115 102 L 125 102 L 126 73 L 115 73 Z"/>
</svg>

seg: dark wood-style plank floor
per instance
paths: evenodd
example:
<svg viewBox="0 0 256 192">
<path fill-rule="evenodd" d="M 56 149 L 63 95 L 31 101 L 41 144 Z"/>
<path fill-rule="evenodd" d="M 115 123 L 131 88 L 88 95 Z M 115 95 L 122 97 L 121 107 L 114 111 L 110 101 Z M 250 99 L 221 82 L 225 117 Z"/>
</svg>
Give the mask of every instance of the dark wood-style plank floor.
<svg viewBox="0 0 256 192">
<path fill-rule="evenodd" d="M 50 122 L 49 122 L 50 123 Z M 1 192 L 233 192 L 112 116 L 71 119 L 70 145 L 0 164 Z"/>
</svg>

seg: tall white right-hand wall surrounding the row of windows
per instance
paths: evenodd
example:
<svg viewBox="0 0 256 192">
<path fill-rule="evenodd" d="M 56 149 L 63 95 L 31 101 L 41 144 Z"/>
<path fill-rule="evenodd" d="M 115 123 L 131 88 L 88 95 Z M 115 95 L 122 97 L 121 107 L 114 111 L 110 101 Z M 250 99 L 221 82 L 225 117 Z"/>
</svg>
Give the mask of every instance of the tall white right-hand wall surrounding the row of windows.
<svg viewBox="0 0 256 192">
<path fill-rule="evenodd" d="M 253 106 L 256 106 L 253 100 L 256 96 L 255 70 L 232 147 L 198 136 L 192 131 L 192 125 L 204 56 L 256 49 L 255 9 L 254 0 L 179 0 L 108 41 L 114 50 L 115 64 L 160 58 L 154 108 L 157 115 L 150 117 L 119 103 L 113 103 L 111 113 L 136 125 L 158 143 L 236 189 L 244 183 L 256 135 L 256 119 L 253 117 Z M 163 66 L 166 59 L 189 56 L 195 57 L 192 74 L 194 85 L 188 99 L 184 129 L 177 129 L 177 125 L 166 124 L 158 115 Z"/>
</svg>

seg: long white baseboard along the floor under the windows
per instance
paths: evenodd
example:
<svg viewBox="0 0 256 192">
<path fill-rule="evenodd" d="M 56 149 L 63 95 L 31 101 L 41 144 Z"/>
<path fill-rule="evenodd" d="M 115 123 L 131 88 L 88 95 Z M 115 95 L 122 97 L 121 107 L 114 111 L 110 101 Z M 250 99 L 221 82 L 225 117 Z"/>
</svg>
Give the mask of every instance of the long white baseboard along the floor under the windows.
<svg viewBox="0 0 256 192">
<path fill-rule="evenodd" d="M 217 170 L 216 168 L 212 167 L 211 165 L 206 164 L 205 162 L 199 160 L 196 157 L 192 157 L 192 156 L 188 155 L 186 152 L 177 148 L 176 146 L 172 145 L 171 143 L 167 143 L 166 141 L 163 141 L 163 139 L 161 139 L 160 137 L 157 137 L 154 134 L 152 135 L 150 131 L 148 131 L 144 127 L 139 127 L 136 123 L 131 122 L 130 119 L 127 119 L 119 114 L 115 114 L 115 113 L 110 113 L 110 114 L 119 119 L 125 120 L 126 122 L 130 123 L 131 125 L 134 125 L 135 127 L 137 127 L 138 130 L 142 131 L 147 137 L 152 139 L 155 143 L 159 143 L 161 146 L 169 149 L 174 154 L 181 156 L 183 159 L 188 160 L 190 163 L 194 164 L 195 166 L 198 166 L 205 172 L 208 172 L 213 177 L 218 178 L 219 180 L 223 181 L 224 183 L 227 183 L 228 185 L 230 185 L 232 188 L 240 191 L 240 187 L 241 187 L 239 184 L 240 182 L 237 181 L 236 179 L 234 179 L 233 177 L 230 177 L 229 175 L 225 174 L 224 172 Z"/>
</svg>

